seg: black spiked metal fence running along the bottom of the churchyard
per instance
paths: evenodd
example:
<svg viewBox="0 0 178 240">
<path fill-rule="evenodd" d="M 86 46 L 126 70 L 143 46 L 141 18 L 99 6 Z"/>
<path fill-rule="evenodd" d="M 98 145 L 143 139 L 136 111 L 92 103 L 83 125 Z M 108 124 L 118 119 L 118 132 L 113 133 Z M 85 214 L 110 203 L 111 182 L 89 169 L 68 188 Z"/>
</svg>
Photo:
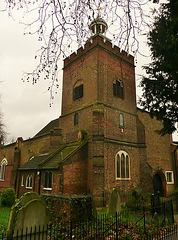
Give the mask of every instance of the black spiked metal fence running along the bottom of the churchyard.
<svg viewBox="0 0 178 240">
<path fill-rule="evenodd" d="M 75 218 L 76 219 L 76 218 Z M 53 219 L 54 220 L 54 219 Z M 15 230 L 13 235 L 2 233 L 0 240 L 127 240 L 127 239 L 178 239 L 178 224 L 174 223 L 173 202 L 161 202 L 160 197 L 151 197 L 151 207 L 141 211 L 94 214 L 84 221 L 61 220 L 46 226 Z"/>
</svg>

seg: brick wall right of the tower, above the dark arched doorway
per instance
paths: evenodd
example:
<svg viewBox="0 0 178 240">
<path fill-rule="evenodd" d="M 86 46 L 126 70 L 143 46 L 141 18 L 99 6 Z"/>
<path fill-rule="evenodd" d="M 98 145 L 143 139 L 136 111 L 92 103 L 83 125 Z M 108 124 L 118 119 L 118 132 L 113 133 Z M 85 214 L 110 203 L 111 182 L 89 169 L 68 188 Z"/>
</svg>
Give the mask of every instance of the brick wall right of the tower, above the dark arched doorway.
<svg viewBox="0 0 178 240">
<path fill-rule="evenodd" d="M 152 168 L 152 177 L 161 170 L 165 176 L 165 171 L 173 170 L 173 159 L 171 156 L 172 136 L 166 134 L 161 136 L 155 131 L 162 128 L 162 123 L 156 118 L 151 118 L 148 113 L 138 110 L 138 117 L 145 126 L 145 141 L 147 159 L 145 161 Z M 152 183 L 148 183 L 152 184 Z M 151 187 L 151 186 L 150 186 Z M 174 185 L 166 185 L 167 194 L 174 190 Z"/>
</svg>

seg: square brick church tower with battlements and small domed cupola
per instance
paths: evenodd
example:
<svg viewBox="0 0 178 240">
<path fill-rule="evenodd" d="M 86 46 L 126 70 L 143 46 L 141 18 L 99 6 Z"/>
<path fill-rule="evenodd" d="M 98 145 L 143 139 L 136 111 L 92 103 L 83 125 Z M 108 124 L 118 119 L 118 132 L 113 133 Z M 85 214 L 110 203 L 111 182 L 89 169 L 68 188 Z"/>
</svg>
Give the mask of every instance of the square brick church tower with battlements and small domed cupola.
<svg viewBox="0 0 178 240">
<path fill-rule="evenodd" d="M 60 126 L 66 143 L 76 141 L 81 130 L 87 133 L 86 193 L 99 204 L 113 187 L 126 191 L 132 179 L 139 181 L 140 143 L 134 58 L 112 45 L 100 16 L 89 28 L 84 48 L 64 61 Z"/>
</svg>

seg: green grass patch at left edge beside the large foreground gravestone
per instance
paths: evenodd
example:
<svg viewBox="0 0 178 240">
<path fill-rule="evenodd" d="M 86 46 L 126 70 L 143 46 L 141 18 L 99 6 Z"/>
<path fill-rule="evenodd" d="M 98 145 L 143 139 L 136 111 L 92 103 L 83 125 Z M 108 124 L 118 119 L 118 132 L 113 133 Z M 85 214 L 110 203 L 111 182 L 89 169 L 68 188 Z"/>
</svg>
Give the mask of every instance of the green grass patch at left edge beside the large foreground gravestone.
<svg viewBox="0 0 178 240">
<path fill-rule="evenodd" d="M 0 206 L 0 233 L 3 231 L 7 231 L 10 210 L 11 208 L 9 207 Z"/>
</svg>

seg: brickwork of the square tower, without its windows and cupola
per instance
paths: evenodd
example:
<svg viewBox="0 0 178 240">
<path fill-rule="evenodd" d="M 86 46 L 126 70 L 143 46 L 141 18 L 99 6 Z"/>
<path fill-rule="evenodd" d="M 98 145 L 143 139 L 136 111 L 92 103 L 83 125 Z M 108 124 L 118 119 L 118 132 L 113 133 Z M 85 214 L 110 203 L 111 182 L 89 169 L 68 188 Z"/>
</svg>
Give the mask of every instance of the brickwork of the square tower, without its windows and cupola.
<svg viewBox="0 0 178 240">
<path fill-rule="evenodd" d="M 73 86 L 80 79 L 83 81 L 83 97 L 73 101 Z M 124 100 L 113 96 L 113 82 L 116 79 L 123 81 Z M 100 137 L 105 136 L 115 141 L 137 144 L 137 109 L 133 58 L 120 53 L 120 49 L 117 47 L 112 48 L 110 42 L 104 43 L 102 38 L 96 37 L 92 44 L 89 42 L 86 44 L 84 50 L 79 49 L 77 55 L 72 54 L 70 58 L 65 60 L 62 102 L 60 127 L 64 129 L 64 141 L 76 140 L 78 131 L 85 129 L 89 135 L 94 134 L 96 138 L 97 135 Z M 96 102 L 102 102 L 102 104 Z M 90 107 L 90 104 L 93 106 Z M 79 113 L 79 124 L 77 126 L 74 126 L 73 122 L 75 111 Z M 124 115 L 124 133 L 121 133 L 119 128 L 120 113 Z M 106 179 L 104 179 L 106 169 L 104 164 L 103 166 L 97 165 L 99 159 L 102 162 L 102 158 L 105 158 L 105 165 L 109 163 L 111 186 L 116 184 L 125 186 L 125 182 L 122 184 L 115 181 L 114 159 L 116 150 L 109 152 L 110 156 L 106 156 L 102 141 L 100 143 L 93 140 L 89 144 L 87 191 L 95 196 L 102 196 L 102 192 L 106 187 Z M 118 145 L 116 146 L 118 149 Z M 111 149 L 115 148 L 115 145 L 110 144 L 110 147 Z M 138 149 L 134 149 L 132 152 L 132 164 L 134 163 L 134 168 L 136 168 L 132 172 L 132 179 L 138 183 L 140 158 Z M 67 169 L 64 168 L 65 171 Z M 131 181 L 127 182 L 129 182 L 128 186 L 132 185 Z"/>
</svg>

